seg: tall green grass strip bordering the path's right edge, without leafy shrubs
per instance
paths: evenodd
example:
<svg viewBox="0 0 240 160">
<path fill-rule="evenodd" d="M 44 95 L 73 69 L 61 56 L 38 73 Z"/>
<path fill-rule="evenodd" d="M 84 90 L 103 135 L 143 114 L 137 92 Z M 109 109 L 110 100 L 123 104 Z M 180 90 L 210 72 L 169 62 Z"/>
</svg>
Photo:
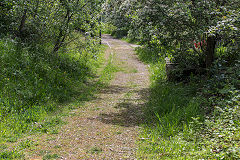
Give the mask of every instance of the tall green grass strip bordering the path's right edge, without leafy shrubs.
<svg viewBox="0 0 240 160">
<path fill-rule="evenodd" d="M 191 122 L 203 119 L 197 86 L 166 81 L 165 61 L 146 48 L 137 50 L 140 59 L 150 65 L 151 88 L 146 104 L 146 125 L 140 135 L 140 159 L 190 158 L 197 147 Z M 180 158 L 181 157 L 181 158 Z"/>
</svg>

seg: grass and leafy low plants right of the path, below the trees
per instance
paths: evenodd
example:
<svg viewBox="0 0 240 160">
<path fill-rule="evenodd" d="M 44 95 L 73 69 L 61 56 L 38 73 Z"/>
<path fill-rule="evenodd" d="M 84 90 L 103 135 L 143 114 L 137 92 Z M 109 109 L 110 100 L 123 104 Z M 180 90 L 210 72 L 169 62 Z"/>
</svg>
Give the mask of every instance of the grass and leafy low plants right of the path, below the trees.
<svg viewBox="0 0 240 160">
<path fill-rule="evenodd" d="M 168 82 L 161 55 L 147 48 L 137 53 L 151 73 L 138 158 L 239 159 L 238 69 L 208 81 L 193 76 L 188 83 Z"/>
</svg>

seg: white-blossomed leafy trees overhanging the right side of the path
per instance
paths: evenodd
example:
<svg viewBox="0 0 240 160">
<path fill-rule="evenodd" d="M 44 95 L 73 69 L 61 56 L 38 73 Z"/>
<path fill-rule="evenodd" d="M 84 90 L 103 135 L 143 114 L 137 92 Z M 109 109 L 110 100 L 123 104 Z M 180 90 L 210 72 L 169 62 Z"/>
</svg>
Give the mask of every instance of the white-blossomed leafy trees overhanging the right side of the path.
<svg viewBox="0 0 240 160">
<path fill-rule="evenodd" d="M 239 6 L 237 0 L 112 0 L 105 17 L 116 26 L 113 34 L 138 40 L 183 68 L 210 68 L 218 58 L 228 64 L 239 58 Z M 224 54 L 217 52 L 221 47 Z"/>
</svg>

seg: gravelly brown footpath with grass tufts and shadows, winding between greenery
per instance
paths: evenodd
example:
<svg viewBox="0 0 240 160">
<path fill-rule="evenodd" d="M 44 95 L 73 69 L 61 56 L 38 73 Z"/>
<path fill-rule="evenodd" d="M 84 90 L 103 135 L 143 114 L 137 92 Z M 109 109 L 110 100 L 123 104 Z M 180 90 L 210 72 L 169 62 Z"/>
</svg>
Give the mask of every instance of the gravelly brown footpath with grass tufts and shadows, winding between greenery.
<svg viewBox="0 0 240 160">
<path fill-rule="evenodd" d="M 106 54 L 119 69 L 110 85 L 73 110 L 61 131 L 46 136 L 37 150 L 51 151 L 59 159 L 136 159 L 136 140 L 148 98 L 147 66 L 135 55 L 136 45 L 103 35 Z"/>
</svg>

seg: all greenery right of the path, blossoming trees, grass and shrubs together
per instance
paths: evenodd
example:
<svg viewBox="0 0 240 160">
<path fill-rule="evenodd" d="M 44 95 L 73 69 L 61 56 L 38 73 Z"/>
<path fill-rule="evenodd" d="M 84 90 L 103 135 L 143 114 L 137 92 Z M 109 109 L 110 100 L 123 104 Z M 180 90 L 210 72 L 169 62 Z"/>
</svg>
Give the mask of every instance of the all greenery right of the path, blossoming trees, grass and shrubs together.
<svg viewBox="0 0 240 160">
<path fill-rule="evenodd" d="M 139 158 L 239 159 L 240 2 L 121 0 L 105 8 L 112 35 L 138 41 L 150 64 Z"/>
</svg>

